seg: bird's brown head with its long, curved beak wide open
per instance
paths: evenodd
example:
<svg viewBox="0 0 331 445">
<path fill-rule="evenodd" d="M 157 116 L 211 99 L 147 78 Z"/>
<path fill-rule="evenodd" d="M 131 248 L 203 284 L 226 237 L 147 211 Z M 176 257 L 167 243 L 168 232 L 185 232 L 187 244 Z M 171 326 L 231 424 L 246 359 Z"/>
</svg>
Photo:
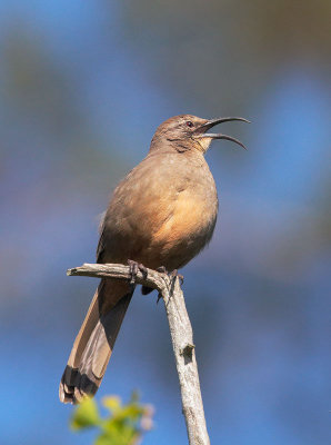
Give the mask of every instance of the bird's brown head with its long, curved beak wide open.
<svg viewBox="0 0 331 445">
<path fill-rule="evenodd" d="M 179 152 L 195 149 L 204 154 L 214 139 L 231 140 L 245 148 L 243 144 L 231 136 L 209 132 L 215 125 L 232 120 L 249 122 L 249 120 L 243 118 L 202 119 L 192 115 L 174 116 L 158 127 L 151 142 L 150 151 L 171 146 Z"/>
</svg>

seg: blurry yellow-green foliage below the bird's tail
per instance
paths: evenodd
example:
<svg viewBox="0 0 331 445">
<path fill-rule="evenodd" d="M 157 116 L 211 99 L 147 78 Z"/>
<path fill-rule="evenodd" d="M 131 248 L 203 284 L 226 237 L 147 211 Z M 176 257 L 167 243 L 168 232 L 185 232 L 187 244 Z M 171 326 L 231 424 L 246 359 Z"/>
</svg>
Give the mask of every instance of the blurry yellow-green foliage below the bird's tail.
<svg viewBox="0 0 331 445">
<path fill-rule="evenodd" d="M 93 398 L 86 398 L 78 405 L 70 422 L 73 431 L 97 428 L 94 445 L 136 445 L 152 427 L 153 408 L 140 404 L 136 393 L 128 404 L 123 405 L 117 396 L 109 396 L 102 399 L 102 405 L 108 411 L 107 417 L 100 416 Z"/>
</svg>

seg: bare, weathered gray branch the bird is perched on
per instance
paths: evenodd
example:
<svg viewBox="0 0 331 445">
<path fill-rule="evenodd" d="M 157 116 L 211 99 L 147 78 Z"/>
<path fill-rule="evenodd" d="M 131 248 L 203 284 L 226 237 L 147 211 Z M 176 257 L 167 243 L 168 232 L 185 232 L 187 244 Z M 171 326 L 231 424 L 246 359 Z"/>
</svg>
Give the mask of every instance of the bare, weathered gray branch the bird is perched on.
<svg viewBox="0 0 331 445">
<path fill-rule="evenodd" d="M 84 264 L 81 267 L 69 269 L 67 275 L 96 278 L 131 278 L 129 266 L 119 264 Z M 136 283 L 157 289 L 163 298 L 180 383 L 189 444 L 209 445 L 193 332 L 179 279 L 171 279 L 167 274 L 147 269 L 147 275 L 140 270 L 138 271 Z"/>
</svg>

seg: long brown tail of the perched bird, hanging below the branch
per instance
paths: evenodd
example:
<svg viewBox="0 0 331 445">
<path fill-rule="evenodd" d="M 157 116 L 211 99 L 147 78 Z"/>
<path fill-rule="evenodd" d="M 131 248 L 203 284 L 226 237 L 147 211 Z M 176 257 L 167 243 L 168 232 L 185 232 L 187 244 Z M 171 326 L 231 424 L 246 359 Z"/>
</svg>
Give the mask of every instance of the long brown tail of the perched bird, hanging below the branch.
<svg viewBox="0 0 331 445">
<path fill-rule="evenodd" d="M 126 281 L 101 280 L 61 378 L 61 402 L 76 404 L 97 393 L 132 294 Z"/>
</svg>

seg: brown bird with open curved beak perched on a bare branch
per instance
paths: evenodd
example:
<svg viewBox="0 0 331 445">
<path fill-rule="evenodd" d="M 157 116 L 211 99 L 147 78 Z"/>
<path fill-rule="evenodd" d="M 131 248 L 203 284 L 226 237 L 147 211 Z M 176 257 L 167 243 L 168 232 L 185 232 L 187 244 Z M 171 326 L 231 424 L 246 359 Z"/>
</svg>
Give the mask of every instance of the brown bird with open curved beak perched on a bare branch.
<svg viewBox="0 0 331 445">
<path fill-rule="evenodd" d="M 177 270 L 210 241 L 218 195 L 204 154 L 217 123 L 243 118 L 201 119 L 181 115 L 157 129 L 148 156 L 118 185 L 101 227 L 98 263 L 138 264 Z M 130 261 L 131 260 L 131 261 Z M 101 279 L 74 340 L 60 383 L 60 400 L 78 403 L 96 394 L 131 300 L 134 285 Z M 142 288 L 144 294 L 151 289 Z"/>
</svg>

